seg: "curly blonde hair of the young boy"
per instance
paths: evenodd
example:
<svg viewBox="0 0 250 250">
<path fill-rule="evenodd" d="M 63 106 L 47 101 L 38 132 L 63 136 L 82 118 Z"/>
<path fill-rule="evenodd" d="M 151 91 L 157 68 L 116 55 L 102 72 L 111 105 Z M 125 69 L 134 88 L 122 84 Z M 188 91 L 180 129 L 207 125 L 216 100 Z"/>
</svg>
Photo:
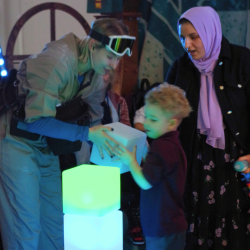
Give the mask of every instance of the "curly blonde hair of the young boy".
<svg viewBox="0 0 250 250">
<path fill-rule="evenodd" d="M 150 90 L 145 96 L 146 103 L 158 105 L 164 112 L 177 119 L 183 119 L 191 112 L 185 92 L 167 82 Z"/>
</svg>

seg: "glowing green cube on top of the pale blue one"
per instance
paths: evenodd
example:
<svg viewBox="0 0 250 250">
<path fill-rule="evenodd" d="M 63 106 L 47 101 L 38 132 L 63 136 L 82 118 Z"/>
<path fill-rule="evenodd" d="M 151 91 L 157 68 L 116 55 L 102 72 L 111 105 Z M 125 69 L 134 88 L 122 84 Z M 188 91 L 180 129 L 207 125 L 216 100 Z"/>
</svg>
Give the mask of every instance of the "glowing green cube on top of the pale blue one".
<svg viewBox="0 0 250 250">
<path fill-rule="evenodd" d="M 120 208 L 119 168 L 80 165 L 63 171 L 63 212 L 104 216 Z"/>
</svg>

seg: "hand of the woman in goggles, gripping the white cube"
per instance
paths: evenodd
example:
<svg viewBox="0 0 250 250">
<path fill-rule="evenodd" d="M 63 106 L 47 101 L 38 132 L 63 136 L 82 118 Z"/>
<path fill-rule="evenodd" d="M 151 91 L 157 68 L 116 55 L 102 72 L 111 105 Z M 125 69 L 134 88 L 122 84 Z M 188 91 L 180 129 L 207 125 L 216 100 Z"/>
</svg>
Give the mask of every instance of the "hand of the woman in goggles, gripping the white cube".
<svg viewBox="0 0 250 250">
<path fill-rule="evenodd" d="M 115 141 L 113 138 L 108 136 L 105 131 L 113 131 L 113 128 L 106 127 L 106 126 L 95 126 L 92 128 L 89 128 L 89 140 L 92 141 L 98 148 L 99 153 L 104 158 L 102 149 L 104 148 L 107 153 L 110 155 L 110 157 L 113 157 L 113 147 L 112 143 L 118 144 L 117 141 Z"/>
</svg>

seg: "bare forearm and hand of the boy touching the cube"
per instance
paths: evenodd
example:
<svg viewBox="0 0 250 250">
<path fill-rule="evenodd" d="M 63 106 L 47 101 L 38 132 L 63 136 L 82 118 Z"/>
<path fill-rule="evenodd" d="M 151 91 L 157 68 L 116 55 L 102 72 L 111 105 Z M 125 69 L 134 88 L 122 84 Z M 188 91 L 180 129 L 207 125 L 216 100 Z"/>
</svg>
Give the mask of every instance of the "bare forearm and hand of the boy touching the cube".
<svg viewBox="0 0 250 250">
<path fill-rule="evenodd" d="M 136 160 L 136 146 L 134 146 L 133 152 L 130 152 L 125 147 L 118 145 L 115 147 L 115 154 L 120 158 L 122 163 L 129 166 L 135 182 L 141 189 L 150 189 L 152 187 L 152 185 L 144 177 L 142 168 Z"/>
</svg>

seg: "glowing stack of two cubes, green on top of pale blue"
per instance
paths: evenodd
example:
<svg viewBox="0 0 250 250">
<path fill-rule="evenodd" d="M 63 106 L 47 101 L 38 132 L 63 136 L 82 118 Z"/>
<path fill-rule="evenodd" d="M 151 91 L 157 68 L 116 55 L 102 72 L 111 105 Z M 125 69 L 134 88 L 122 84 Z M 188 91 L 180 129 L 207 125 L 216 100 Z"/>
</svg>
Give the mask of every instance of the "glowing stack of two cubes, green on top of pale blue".
<svg viewBox="0 0 250 250">
<path fill-rule="evenodd" d="M 80 165 L 63 171 L 65 250 L 122 250 L 120 169 Z"/>
</svg>

